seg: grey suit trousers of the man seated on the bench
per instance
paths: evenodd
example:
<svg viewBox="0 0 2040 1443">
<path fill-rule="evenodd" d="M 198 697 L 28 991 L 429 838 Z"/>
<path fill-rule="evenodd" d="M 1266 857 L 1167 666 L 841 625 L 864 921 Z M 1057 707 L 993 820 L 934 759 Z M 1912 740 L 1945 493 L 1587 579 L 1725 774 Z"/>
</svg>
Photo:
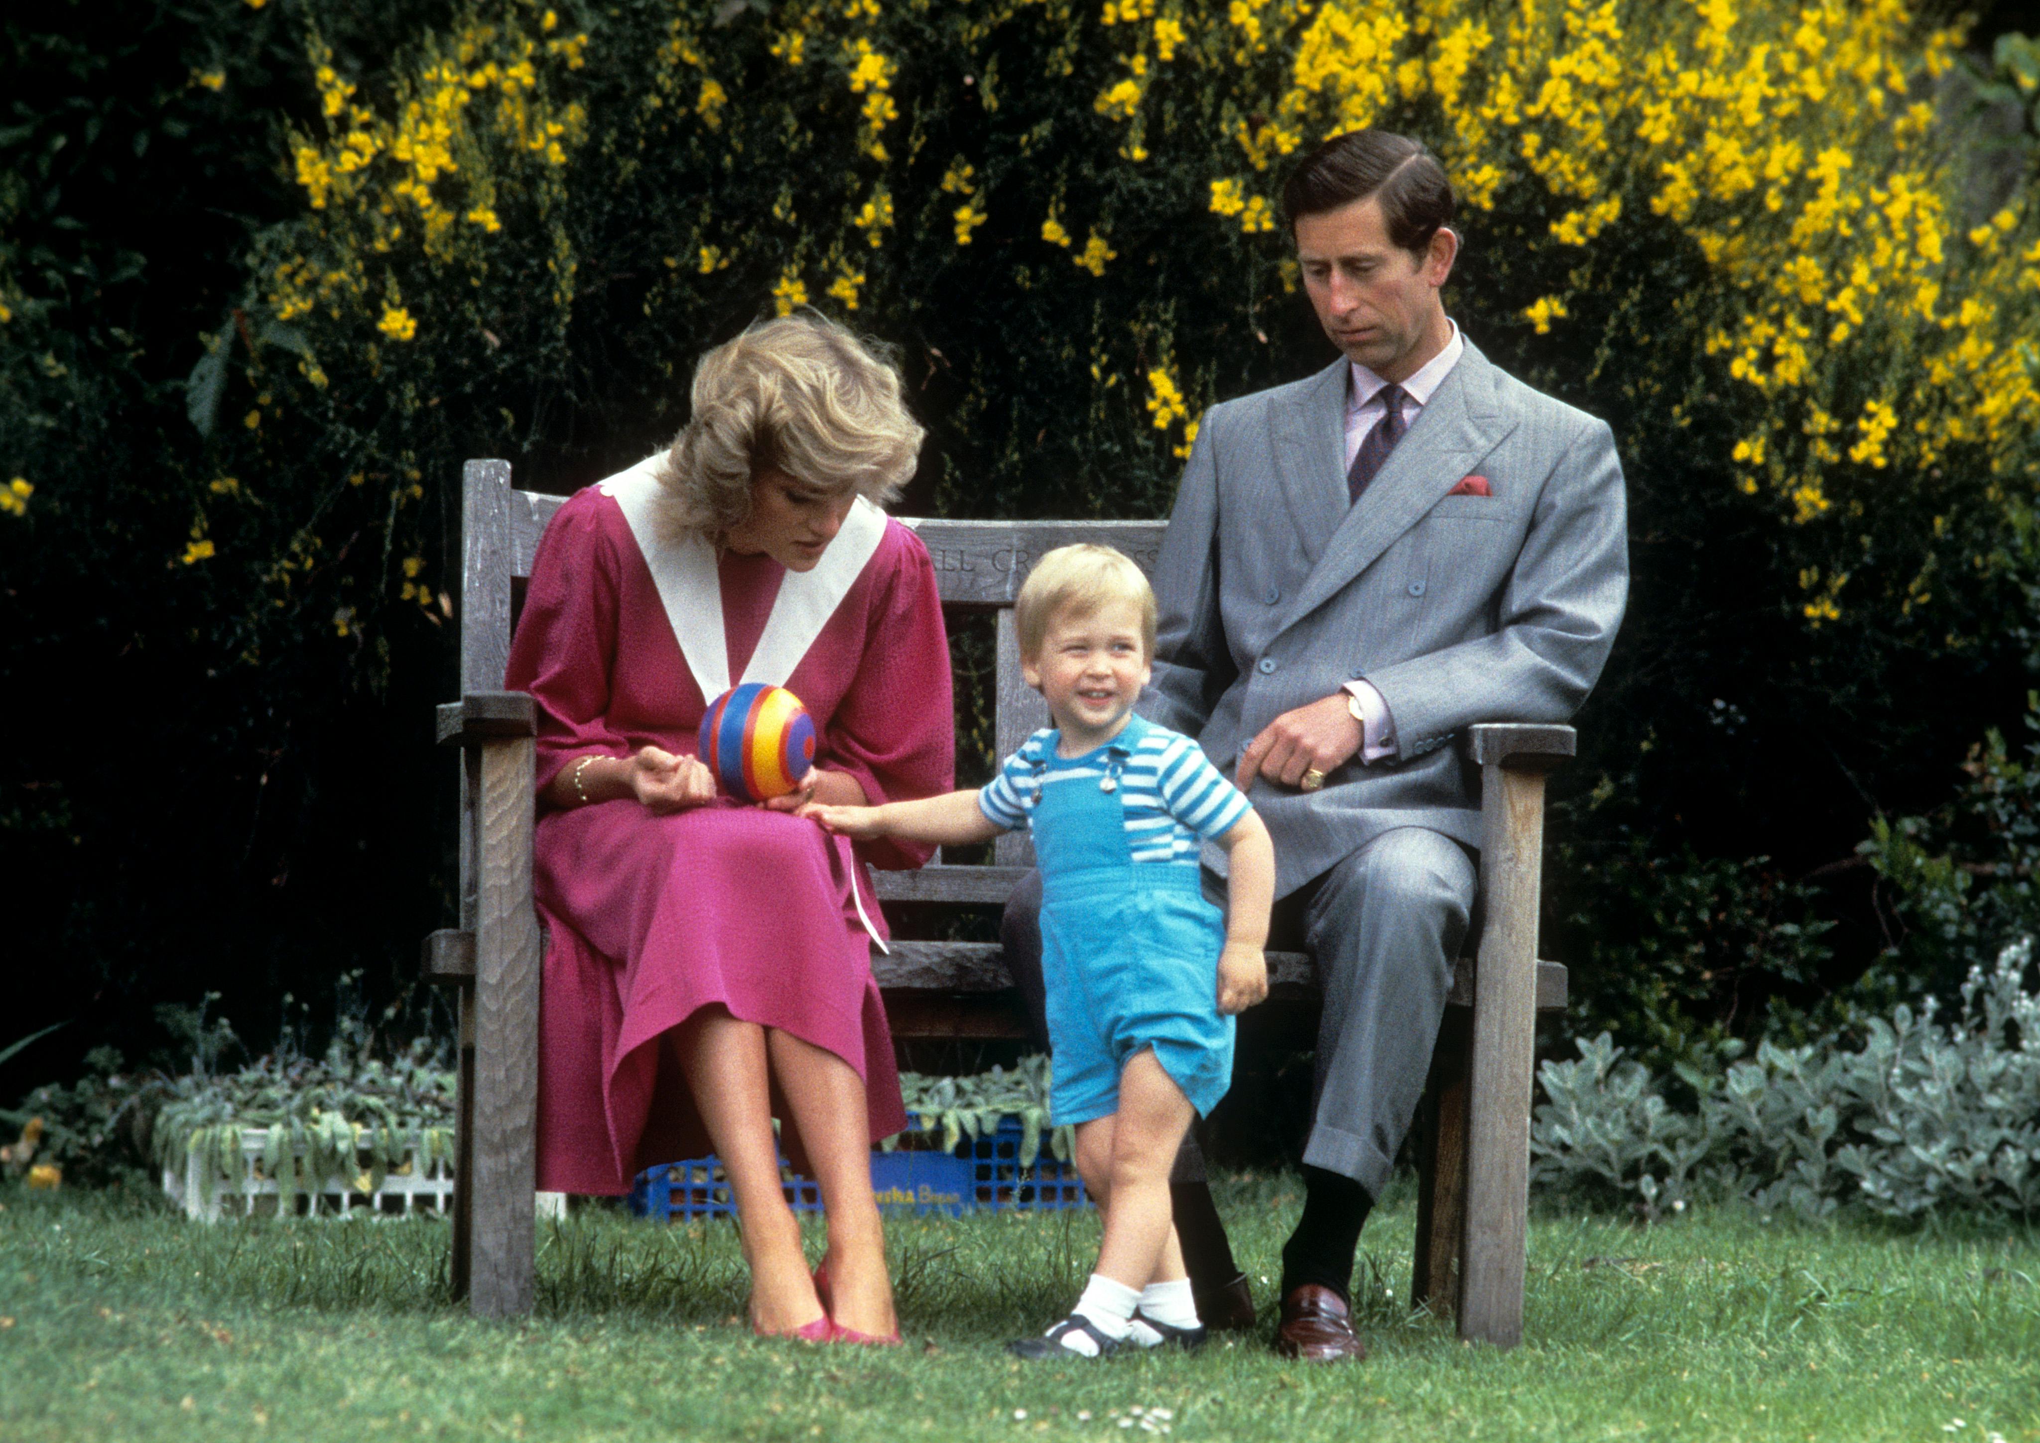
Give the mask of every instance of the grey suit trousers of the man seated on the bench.
<svg viewBox="0 0 2040 1443">
<path fill-rule="evenodd" d="M 1452 838 L 1426 827 L 1383 832 L 1277 903 L 1271 946 L 1302 944 L 1318 964 L 1324 1015 L 1304 1162 L 1381 1196 L 1416 1117 L 1444 1021 L 1452 964 L 1467 940 L 1479 870 Z M 1206 876 L 1224 903 L 1224 885 Z M 1049 1046 L 1040 980 L 1040 876 L 1006 903 L 1006 966 Z M 1195 1135 L 1173 1182 L 1204 1178 Z"/>
</svg>

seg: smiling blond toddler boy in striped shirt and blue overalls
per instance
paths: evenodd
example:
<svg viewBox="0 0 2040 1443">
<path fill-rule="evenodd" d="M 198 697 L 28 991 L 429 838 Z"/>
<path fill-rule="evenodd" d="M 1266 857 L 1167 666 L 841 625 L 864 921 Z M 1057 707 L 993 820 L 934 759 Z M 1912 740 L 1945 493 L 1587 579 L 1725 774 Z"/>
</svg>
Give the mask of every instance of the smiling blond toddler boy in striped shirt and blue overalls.
<svg viewBox="0 0 2040 1443">
<path fill-rule="evenodd" d="M 1061 546 L 1014 601 L 1020 669 L 1049 701 L 981 791 L 881 807 L 806 807 L 830 832 L 961 846 L 1028 827 L 1042 874 L 1042 980 L 1057 1123 L 1106 1237 L 1083 1296 L 1022 1357 L 1098 1357 L 1204 1341 L 1169 1221 L 1169 1168 L 1191 1113 L 1232 1080 L 1234 1013 L 1267 997 L 1275 850 L 1185 736 L 1132 715 L 1155 652 L 1155 593 L 1110 546 Z M 1230 858 L 1226 919 L 1197 848 Z"/>
</svg>

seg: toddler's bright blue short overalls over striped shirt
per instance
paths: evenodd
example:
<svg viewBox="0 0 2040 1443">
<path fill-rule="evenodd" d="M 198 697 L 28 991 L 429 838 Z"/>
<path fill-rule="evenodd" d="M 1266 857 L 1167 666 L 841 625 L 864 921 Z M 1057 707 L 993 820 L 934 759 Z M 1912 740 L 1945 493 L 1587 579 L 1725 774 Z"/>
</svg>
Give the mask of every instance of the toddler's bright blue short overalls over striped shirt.
<svg viewBox="0 0 2040 1443">
<path fill-rule="evenodd" d="M 1234 1019 L 1218 1013 L 1224 919 L 1195 862 L 1134 862 L 1118 777 L 1128 732 L 1038 764 L 1030 830 L 1040 864 L 1040 970 L 1057 1123 L 1118 1111 L 1120 1070 L 1140 1048 L 1208 1115 L 1232 1082 Z M 1053 781 L 1104 764 L 1106 777 Z"/>
</svg>

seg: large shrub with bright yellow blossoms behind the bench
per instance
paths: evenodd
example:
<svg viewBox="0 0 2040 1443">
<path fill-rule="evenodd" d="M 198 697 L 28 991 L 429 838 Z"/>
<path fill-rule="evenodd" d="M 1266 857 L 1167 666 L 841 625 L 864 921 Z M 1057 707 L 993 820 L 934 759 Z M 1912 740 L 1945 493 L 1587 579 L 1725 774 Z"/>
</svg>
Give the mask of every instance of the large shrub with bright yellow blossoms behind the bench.
<svg viewBox="0 0 2040 1443">
<path fill-rule="evenodd" d="M 1973 159 L 1962 37 L 1895 0 L 545 14 L 479 4 L 373 75 L 310 37 L 302 210 L 257 253 L 275 399 L 216 444 L 365 475 L 347 514 L 424 558 L 379 571 L 406 618 L 449 609 L 461 459 L 600 479 L 673 434 L 706 346 L 800 306 L 898 346 L 930 426 L 910 510 L 1163 514 L 1204 408 L 1332 359 L 1281 181 L 1379 124 L 1455 177 L 1465 334 L 1622 446 L 1595 807 L 1720 836 L 1826 809 L 1812 866 L 1858 836 L 1858 781 L 1967 740 L 2030 648 L 2040 206 L 2030 165 Z M 218 514 L 192 573 L 235 554 Z M 330 601 L 349 642 L 384 624 Z M 1846 738 L 1832 774 L 1809 732 Z"/>
</svg>

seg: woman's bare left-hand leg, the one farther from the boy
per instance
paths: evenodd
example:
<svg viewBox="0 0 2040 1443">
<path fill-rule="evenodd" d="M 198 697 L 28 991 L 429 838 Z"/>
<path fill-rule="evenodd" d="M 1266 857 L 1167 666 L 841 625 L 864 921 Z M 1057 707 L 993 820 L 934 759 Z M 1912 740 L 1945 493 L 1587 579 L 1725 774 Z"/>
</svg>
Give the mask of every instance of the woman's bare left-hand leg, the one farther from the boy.
<svg viewBox="0 0 2040 1443">
<path fill-rule="evenodd" d="M 779 1190 L 765 1029 L 722 1007 L 704 1007 L 679 1025 L 675 1041 L 694 1107 L 736 1200 L 751 1264 L 751 1323 L 763 1333 L 792 1333 L 822 1317 L 822 1302 L 800 1251 L 800 1223 Z"/>
</svg>

